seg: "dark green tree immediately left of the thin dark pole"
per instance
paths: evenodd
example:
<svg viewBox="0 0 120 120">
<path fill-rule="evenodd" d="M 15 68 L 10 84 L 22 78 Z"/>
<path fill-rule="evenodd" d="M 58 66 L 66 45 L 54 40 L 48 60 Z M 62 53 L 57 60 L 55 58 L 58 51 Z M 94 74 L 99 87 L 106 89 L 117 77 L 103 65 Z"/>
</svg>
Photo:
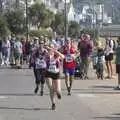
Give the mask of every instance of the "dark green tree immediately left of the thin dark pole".
<svg viewBox="0 0 120 120">
<path fill-rule="evenodd" d="M 14 34 L 21 34 L 25 31 L 25 17 L 24 12 L 21 10 L 9 11 L 5 14 L 8 28 Z"/>
</svg>

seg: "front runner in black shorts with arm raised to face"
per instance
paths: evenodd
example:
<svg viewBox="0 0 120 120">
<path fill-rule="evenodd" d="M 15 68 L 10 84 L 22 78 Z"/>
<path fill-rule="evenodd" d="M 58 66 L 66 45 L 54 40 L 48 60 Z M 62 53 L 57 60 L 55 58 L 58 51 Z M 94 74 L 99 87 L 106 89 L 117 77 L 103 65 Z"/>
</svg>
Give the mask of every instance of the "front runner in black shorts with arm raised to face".
<svg viewBox="0 0 120 120">
<path fill-rule="evenodd" d="M 55 105 L 55 93 L 58 99 L 61 99 L 61 84 L 60 84 L 60 58 L 64 58 L 60 52 L 58 52 L 54 45 L 46 47 L 49 50 L 49 56 L 47 60 L 47 80 L 46 83 L 50 90 L 50 98 L 52 102 L 52 110 L 56 109 Z"/>
</svg>

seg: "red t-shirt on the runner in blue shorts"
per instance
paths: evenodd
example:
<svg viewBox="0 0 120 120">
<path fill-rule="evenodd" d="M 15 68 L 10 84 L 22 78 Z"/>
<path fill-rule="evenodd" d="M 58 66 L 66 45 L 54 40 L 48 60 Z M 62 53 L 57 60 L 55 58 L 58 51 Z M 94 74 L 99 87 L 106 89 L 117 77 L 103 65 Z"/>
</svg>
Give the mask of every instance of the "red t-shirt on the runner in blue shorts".
<svg viewBox="0 0 120 120">
<path fill-rule="evenodd" d="M 63 67 L 74 69 L 76 66 L 75 60 L 73 57 L 73 55 L 75 54 L 75 48 L 71 47 L 69 52 L 67 52 L 67 50 L 64 48 L 63 54 L 65 56 L 63 61 Z"/>
</svg>

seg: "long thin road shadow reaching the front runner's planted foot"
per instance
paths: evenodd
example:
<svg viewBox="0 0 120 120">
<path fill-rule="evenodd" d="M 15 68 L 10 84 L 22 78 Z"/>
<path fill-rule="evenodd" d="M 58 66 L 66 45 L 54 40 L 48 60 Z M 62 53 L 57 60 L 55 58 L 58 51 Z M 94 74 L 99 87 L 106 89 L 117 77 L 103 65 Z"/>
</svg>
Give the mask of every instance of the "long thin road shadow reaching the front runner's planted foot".
<svg viewBox="0 0 120 120">
<path fill-rule="evenodd" d="M 25 111 L 41 111 L 51 110 L 50 108 L 23 108 L 23 107 L 0 107 L 0 110 L 25 110 Z"/>
</svg>

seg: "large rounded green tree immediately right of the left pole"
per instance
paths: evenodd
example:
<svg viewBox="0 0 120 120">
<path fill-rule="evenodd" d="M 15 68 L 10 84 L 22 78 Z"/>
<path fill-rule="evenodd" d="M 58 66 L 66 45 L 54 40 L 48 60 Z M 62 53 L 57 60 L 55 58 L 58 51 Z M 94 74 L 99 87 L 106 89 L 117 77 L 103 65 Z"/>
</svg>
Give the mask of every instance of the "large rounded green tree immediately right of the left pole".
<svg viewBox="0 0 120 120">
<path fill-rule="evenodd" d="M 29 20 L 38 29 L 49 27 L 53 19 L 53 13 L 44 4 L 35 3 L 29 7 Z"/>
</svg>

